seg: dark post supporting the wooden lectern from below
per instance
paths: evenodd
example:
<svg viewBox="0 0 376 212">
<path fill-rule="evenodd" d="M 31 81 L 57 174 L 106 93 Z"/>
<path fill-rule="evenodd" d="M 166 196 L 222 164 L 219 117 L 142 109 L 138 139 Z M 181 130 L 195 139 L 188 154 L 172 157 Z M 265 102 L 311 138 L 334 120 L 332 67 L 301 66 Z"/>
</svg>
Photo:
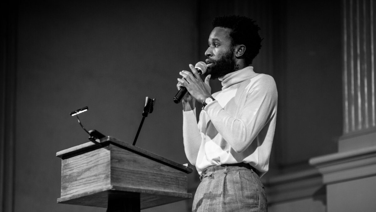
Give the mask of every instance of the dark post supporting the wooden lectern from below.
<svg viewBox="0 0 376 212">
<path fill-rule="evenodd" d="M 140 212 L 140 194 L 112 191 L 108 194 L 106 212 Z"/>
</svg>

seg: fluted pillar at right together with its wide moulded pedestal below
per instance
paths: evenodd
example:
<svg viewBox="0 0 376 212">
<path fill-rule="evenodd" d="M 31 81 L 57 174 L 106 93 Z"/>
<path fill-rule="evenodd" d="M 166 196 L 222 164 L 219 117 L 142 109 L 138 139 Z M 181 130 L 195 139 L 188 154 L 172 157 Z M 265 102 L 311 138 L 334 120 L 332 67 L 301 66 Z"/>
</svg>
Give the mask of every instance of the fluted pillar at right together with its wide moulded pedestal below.
<svg viewBox="0 0 376 212">
<path fill-rule="evenodd" d="M 376 2 L 343 0 L 343 136 L 338 153 L 311 158 L 326 187 L 327 212 L 376 208 Z"/>
</svg>

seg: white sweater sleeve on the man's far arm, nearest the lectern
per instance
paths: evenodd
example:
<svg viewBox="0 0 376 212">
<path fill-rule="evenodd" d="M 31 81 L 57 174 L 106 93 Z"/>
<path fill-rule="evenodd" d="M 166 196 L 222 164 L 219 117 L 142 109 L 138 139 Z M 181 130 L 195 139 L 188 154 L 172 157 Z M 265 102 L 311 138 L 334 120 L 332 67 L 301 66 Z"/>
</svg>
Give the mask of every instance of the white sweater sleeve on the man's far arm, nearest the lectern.
<svg viewBox="0 0 376 212">
<path fill-rule="evenodd" d="M 188 161 L 196 165 L 197 154 L 201 145 L 201 133 L 197 126 L 196 108 L 192 111 L 183 111 L 183 143 Z"/>
</svg>

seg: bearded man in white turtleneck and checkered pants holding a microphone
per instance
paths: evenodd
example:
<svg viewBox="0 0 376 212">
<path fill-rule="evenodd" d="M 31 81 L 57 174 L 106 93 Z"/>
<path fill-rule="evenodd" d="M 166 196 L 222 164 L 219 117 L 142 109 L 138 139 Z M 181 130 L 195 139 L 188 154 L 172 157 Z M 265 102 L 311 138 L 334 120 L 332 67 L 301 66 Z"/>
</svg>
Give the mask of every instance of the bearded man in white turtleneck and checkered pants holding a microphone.
<svg viewBox="0 0 376 212">
<path fill-rule="evenodd" d="M 192 73 L 180 72 L 177 88 L 189 92 L 182 100 L 185 154 L 201 180 L 193 211 L 267 211 L 259 177 L 268 171 L 277 89 L 271 76 L 250 66 L 261 48 L 258 30 L 246 17 L 215 18 L 208 76 L 203 82 L 192 65 Z M 222 90 L 211 94 L 209 78 L 218 77 Z M 196 101 L 203 103 L 198 124 Z"/>
</svg>

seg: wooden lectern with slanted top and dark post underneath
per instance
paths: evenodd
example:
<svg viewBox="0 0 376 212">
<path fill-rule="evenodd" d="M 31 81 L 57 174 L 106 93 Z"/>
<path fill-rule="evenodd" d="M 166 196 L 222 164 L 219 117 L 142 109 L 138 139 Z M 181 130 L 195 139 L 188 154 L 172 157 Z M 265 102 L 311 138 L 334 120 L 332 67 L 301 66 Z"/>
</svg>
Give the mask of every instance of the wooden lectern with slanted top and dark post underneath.
<svg viewBox="0 0 376 212">
<path fill-rule="evenodd" d="M 57 152 L 61 158 L 58 203 L 140 211 L 192 197 L 190 167 L 112 137 Z"/>
</svg>

